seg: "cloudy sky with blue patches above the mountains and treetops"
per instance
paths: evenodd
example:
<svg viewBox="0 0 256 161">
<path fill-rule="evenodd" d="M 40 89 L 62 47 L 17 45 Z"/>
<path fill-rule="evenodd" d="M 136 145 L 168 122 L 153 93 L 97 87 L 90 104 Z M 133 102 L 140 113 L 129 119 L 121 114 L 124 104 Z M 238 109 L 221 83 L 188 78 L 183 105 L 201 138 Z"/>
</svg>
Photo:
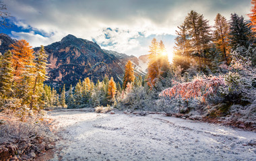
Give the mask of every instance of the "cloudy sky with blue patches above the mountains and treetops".
<svg viewBox="0 0 256 161">
<path fill-rule="evenodd" d="M 248 19 L 251 0 L 2 0 L 12 17 L 0 32 L 33 47 L 58 42 L 67 34 L 96 42 L 106 50 L 148 54 L 153 38 L 172 54 L 175 30 L 191 11 L 214 25 L 217 13 Z"/>
</svg>

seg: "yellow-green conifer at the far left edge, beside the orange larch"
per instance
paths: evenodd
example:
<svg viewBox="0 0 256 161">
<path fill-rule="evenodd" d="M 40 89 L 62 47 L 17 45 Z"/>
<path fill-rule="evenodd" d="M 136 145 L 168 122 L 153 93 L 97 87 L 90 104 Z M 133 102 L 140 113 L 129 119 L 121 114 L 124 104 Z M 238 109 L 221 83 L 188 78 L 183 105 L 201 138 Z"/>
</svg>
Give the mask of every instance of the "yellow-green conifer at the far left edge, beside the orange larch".
<svg viewBox="0 0 256 161">
<path fill-rule="evenodd" d="M 0 56 L 0 95 L 9 97 L 12 93 L 11 84 L 13 82 L 13 68 L 11 66 L 11 51 L 8 50 Z"/>
</svg>

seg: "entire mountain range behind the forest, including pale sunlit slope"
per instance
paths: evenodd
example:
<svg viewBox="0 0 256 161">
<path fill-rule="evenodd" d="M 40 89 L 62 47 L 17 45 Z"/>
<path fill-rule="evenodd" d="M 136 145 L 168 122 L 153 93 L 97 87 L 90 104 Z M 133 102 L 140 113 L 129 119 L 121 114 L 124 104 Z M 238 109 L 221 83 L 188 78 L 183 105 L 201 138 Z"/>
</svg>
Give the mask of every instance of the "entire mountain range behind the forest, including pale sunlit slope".
<svg viewBox="0 0 256 161">
<path fill-rule="evenodd" d="M 9 49 L 9 44 L 14 43 L 6 34 L 0 34 L 0 52 Z M 40 48 L 34 48 L 38 52 Z M 128 56 L 114 51 L 102 50 L 98 44 L 73 35 L 65 36 L 60 42 L 44 46 L 49 55 L 49 79 L 48 85 L 55 88 L 75 85 L 79 79 L 89 77 L 96 83 L 104 76 L 113 76 L 115 81 L 123 81 L 125 64 L 131 60 L 135 66 L 135 74 L 145 76 L 148 64 L 148 56 Z"/>
</svg>

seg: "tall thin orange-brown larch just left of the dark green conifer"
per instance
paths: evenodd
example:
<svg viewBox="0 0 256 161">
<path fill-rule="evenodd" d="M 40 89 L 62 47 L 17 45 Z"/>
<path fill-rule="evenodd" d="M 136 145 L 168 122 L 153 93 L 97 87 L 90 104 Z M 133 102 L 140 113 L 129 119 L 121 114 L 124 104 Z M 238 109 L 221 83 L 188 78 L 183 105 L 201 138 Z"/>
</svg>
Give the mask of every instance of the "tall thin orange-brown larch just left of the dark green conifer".
<svg viewBox="0 0 256 161">
<path fill-rule="evenodd" d="M 220 13 L 216 15 L 215 24 L 214 24 L 214 43 L 220 52 L 222 53 L 222 57 L 228 64 L 228 54 L 229 54 L 229 24 L 226 18 Z"/>
</svg>

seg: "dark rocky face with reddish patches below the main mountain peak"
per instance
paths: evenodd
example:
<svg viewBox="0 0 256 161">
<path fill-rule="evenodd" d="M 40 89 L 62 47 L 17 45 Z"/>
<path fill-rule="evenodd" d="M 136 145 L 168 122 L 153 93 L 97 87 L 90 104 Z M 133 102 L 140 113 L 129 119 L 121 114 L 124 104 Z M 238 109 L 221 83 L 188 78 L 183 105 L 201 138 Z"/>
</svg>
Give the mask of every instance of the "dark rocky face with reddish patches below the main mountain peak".
<svg viewBox="0 0 256 161">
<path fill-rule="evenodd" d="M 34 48 L 35 52 L 39 49 Z M 50 85 L 65 84 L 68 87 L 86 77 L 94 82 L 104 76 L 121 81 L 123 70 L 119 59 L 104 52 L 94 42 L 68 35 L 44 49 L 49 55 L 49 80 L 46 83 Z"/>
</svg>

